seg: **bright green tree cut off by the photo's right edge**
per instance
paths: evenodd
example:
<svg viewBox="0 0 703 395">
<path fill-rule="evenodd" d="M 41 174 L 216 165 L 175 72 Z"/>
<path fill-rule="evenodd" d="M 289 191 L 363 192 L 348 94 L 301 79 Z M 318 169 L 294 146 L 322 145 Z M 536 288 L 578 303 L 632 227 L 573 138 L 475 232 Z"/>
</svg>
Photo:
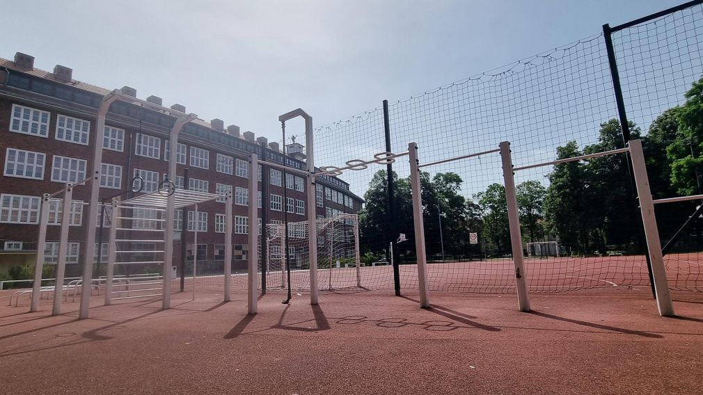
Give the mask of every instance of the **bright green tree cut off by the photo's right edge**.
<svg viewBox="0 0 703 395">
<path fill-rule="evenodd" d="M 685 93 L 686 102 L 676 110 L 678 133 L 666 148 L 671 162 L 671 185 L 681 195 L 702 193 L 703 176 L 703 78 Z"/>
</svg>

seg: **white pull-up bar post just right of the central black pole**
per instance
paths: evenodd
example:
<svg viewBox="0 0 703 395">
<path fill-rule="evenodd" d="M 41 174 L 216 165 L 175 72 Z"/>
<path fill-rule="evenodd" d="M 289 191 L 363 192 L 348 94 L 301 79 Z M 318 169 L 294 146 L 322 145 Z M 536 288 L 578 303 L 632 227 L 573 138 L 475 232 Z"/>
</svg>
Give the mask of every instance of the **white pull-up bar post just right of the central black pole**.
<svg viewBox="0 0 703 395">
<path fill-rule="evenodd" d="M 418 144 L 408 144 L 410 153 L 410 181 L 413 188 L 413 223 L 415 224 L 415 251 L 418 258 L 418 283 L 420 306 L 430 307 L 430 292 L 427 290 L 427 254 L 425 253 L 425 222 L 423 221 L 423 196 L 420 186 L 420 162 Z"/>
</svg>

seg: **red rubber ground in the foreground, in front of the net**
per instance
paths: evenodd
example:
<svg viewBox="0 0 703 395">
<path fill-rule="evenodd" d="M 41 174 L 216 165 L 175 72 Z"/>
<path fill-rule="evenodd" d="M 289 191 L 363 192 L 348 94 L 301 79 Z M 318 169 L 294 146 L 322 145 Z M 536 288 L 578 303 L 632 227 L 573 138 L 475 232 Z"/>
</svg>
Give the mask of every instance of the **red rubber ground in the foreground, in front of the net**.
<svg viewBox="0 0 703 395">
<path fill-rule="evenodd" d="M 661 318 L 648 287 L 534 294 L 282 294 L 246 315 L 245 295 L 122 301 L 77 320 L 0 293 L 4 394 L 699 394 L 703 294 L 672 292 Z"/>
</svg>

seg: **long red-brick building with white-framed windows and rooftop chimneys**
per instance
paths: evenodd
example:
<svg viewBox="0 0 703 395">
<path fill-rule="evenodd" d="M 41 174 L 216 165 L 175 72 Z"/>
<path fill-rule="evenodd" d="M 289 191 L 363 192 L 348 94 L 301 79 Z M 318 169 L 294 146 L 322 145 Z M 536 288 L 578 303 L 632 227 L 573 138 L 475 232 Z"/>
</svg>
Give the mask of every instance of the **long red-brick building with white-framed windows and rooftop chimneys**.
<svg viewBox="0 0 703 395">
<path fill-rule="evenodd" d="M 136 98 L 136 90 L 124 86 L 123 93 Z M 105 138 L 96 141 L 96 112 L 109 89 L 72 79 L 72 70 L 57 65 L 53 72 L 34 68 L 34 58 L 22 53 L 15 60 L 0 58 L 0 273 L 9 266 L 34 261 L 38 235 L 40 197 L 63 188 L 67 182 L 85 178 L 91 167 L 93 144 L 103 144 L 101 197 L 125 192 L 131 197 L 135 176 L 143 179 L 142 193 L 153 191 L 167 173 L 169 131 L 174 119 L 186 112 L 183 105 L 162 107 L 162 100 L 149 96 L 142 103 L 112 103 L 105 122 Z M 304 150 L 295 143 L 285 165 L 304 169 Z M 304 180 L 286 174 L 288 201 L 283 201 L 283 174 L 269 168 L 266 162 L 283 164 L 278 143 L 255 138 L 251 131 L 240 134 L 239 127 L 224 127 L 220 119 L 210 122 L 195 119 L 183 127 L 176 148 L 177 188 L 188 188 L 235 196 L 233 235 L 233 267 L 246 266 L 247 251 L 247 169 L 246 157 L 256 153 L 259 160 L 259 218 L 266 223 L 305 221 L 306 194 Z M 184 172 L 188 169 L 188 185 Z M 263 192 L 263 193 L 262 193 Z M 73 193 L 67 276 L 77 275 L 84 263 L 86 232 L 99 231 L 98 224 L 86 224 L 89 186 L 77 186 Z M 356 213 L 362 200 L 349 191 L 349 185 L 335 177 L 318 179 L 316 214 Z M 224 259 L 224 203 L 209 202 L 195 213 L 176 212 L 176 230 L 188 226 L 187 254 L 197 254 L 198 263 L 221 262 Z M 183 221 L 183 219 L 186 221 Z M 46 262 L 56 260 L 58 251 L 60 200 L 52 203 L 47 229 Z M 198 245 L 191 243 L 198 227 Z M 107 230 L 103 241 L 107 241 Z M 174 261 L 181 258 L 174 245 Z M 191 244 L 189 244 L 191 243 Z M 147 246 L 148 247 L 148 246 Z M 105 250 L 103 250 L 105 252 Z M 103 253 L 101 261 L 105 261 Z M 92 257 L 96 261 L 97 257 Z M 221 266 L 221 265 L 220 265 Z"/>
</svg>

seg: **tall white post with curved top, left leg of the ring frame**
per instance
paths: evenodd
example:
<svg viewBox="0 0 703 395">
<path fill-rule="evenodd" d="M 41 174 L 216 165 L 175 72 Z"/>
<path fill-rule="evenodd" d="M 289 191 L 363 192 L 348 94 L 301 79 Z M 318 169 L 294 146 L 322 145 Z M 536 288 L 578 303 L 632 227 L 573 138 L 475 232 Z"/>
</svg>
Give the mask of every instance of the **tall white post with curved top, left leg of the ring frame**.
<svg viewBox="0 0 703 395">
<path fill-rule="evenodd" d="M 105 115 L 108 113 L 108 108 L 110 108 L 110 104 L 116 101 L 118 95 L 121 93 L 122 91 L 115 90 L 105 95 L 103 101 L 100 104 L 100 108 L 98 108 L 98 115 L 96 117 L 94 135 L 95 138 L 92 141 L 92 178 L 90 181 L 86 181 L 86 185 L 90 183 L 91 193 L 90 204 L 88 205 L 88 218 L 86 219 L 88 225 L 86 226 L 86 247 L 85 254 L 83 257 L 83 286 L 81 287 L 81 306 L 78 313 L 78 318 L 89 317 L 91 294 L 90 284 L 91 280 L 93 280 L 93 258 L 95 256 L 95 226 L 98 223 L 98 210 L 100 209 L 98 200 L 100 197 L 100 172 L 103 166 L 103 138 L 105 136 Z"/>
</svg>

